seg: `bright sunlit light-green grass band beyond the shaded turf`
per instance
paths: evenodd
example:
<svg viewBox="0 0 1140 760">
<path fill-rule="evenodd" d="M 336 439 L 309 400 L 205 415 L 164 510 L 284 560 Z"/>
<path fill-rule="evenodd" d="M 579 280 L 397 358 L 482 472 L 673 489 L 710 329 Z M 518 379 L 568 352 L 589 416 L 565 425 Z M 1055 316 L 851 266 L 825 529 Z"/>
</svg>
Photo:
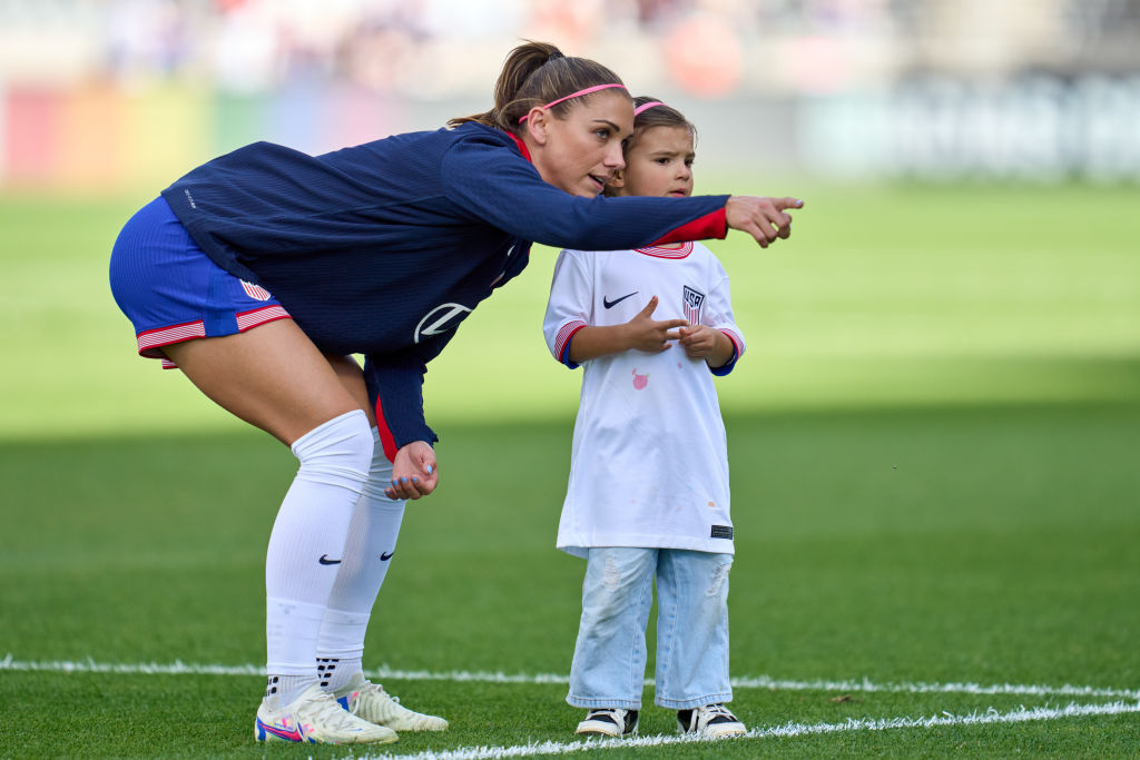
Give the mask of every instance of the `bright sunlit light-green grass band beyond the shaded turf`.
<svg viewBox="0 0 1140 760">
<path fill-rule="evenodd" d="M 755 188 L 755 179 L 701 186 Z M 800 189 L 807 207 L 790 240 L 766 251 L 739 232 L 709 242 L 749 342 L 720 383 L 726 410 L 1135 398 L 1140 258 L 1127 220 L 1137 188 Z M 241 425 L 178 373 L 135 356 L 107 260 L 147 199 L 0 196 L 0 319 L 10 327 L 6 359 L 19 368 L 0 374 L 0 436 Z M 551 359 L 540 332 L 555 256 L 536 246 L 522 276 L 431 362 L 431 422 L 572 416 L 580 376 Z M 83 368 L 82 392 L 58 371 L 59 357 Z M 489 367 L 487 357 L 510 359 Z"/>
</svg>

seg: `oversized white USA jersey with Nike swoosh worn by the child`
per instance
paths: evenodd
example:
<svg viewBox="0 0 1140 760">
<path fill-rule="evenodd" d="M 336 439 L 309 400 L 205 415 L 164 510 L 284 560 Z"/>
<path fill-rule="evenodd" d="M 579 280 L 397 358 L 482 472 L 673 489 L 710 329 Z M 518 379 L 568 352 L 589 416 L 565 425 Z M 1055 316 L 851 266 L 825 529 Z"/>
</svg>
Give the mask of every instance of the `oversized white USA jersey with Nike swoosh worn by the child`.
<svg viewBox="0 0 1140 760">
<path fill-rule="evenodd" d="M 728 276 L 700 243 L 678 248 L 562 251 L 543 332 L 570 367 L 569 345 L 586 326 L 622 325 L 652 296 L 653 319 L 682 318 L 726 334 L 733 321 Z M 676 342 L 660 353 L 626 351 L 583 362 L 570 482 L 557 547 L 597 546 L 733 553 L 728 457 L 712 371 Z"/>
</svg>

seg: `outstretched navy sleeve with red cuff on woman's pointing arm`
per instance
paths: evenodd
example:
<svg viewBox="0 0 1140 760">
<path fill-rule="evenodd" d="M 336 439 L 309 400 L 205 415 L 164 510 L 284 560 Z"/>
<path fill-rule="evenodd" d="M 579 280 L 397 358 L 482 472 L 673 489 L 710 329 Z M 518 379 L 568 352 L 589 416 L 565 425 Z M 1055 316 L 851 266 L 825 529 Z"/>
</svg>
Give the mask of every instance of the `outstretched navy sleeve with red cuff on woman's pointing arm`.
<svg viewBox="0 0 1140 760">
<path fill-rule="evenodd" d="M 544 182 L 514 147 L 482 134 L 458 140 L 441 170 L 447 198 L 472 219 L 554 247 L 617 251 L 727 232 L 726 195 L 577 197 Z"/>
</svg>

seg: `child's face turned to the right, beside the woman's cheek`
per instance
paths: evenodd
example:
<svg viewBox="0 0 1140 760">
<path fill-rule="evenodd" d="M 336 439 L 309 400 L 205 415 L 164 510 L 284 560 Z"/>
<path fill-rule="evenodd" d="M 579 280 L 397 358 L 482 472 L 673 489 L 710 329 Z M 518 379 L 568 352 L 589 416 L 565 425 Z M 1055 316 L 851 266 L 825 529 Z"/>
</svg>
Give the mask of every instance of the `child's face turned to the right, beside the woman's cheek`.
<svg viewBox="0 0 1140 760">
<path fill-rule="evenodd" d="M 689 197 L 693 193 L 693 133 L 686 126 L 651 126 L 626 150 L 614 195 Z"/>
</svg>

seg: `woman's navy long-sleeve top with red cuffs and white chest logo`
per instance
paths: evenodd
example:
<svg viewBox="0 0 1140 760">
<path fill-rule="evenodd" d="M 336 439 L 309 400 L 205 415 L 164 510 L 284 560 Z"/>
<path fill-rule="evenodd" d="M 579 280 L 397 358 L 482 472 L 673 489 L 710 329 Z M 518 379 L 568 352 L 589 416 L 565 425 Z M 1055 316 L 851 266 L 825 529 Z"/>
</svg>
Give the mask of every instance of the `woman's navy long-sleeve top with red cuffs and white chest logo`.
<svg viewBox="0 0 1140 760">
<path fill-rule="evenodd" d="M 163 197 L 218 265 L 268 288 L 323 351 L 364 353 L 389 456 L 434 441 L 425 365 L 531 242 L 585 251 L 724 237 L 728 196 L 581 198 L 478 123 L 309 156 L 255 142 Z"/>
</svg>

